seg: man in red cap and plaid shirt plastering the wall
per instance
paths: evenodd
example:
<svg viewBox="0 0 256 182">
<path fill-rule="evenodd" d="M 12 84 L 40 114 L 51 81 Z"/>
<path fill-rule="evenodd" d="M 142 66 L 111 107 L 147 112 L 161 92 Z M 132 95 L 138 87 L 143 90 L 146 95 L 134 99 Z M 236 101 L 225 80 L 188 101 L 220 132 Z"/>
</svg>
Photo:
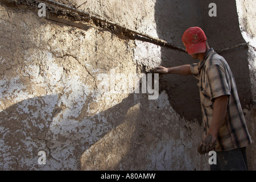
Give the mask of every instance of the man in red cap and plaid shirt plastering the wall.
<svg viewBox="0 0 256 182">
<path fill-rule="evenodd" d="M 199 80 L 205 137 L 197 151 L 216 151 L 217 165 L 211 170 L 247 170 L 245 147 L 251 143 L 238 98 L 236 82 L 224 57 L 209 48 L 204 31 L 188 28 L 182 37 L 186 52 L 199 63 L 157 67 L 155 73 L 193 75 Z"/>
</svg>

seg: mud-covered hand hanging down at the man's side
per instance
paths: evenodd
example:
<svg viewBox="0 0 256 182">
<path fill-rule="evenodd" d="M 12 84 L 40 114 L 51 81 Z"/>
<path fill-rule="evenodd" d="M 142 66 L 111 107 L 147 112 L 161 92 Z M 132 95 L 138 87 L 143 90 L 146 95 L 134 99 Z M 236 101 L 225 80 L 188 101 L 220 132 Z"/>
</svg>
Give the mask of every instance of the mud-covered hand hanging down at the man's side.
<svg viewBox="0 0 256 182">
<path fill-rule="evenodd" d="M 211 134 L 208 134 L 204 137 L 204 139 L 199 144 L 197 151 L 203 155 L 208 153 L 209 151 L 213 151 L 216 146 L 216 139 L 213 139 Z"/>
</svg>

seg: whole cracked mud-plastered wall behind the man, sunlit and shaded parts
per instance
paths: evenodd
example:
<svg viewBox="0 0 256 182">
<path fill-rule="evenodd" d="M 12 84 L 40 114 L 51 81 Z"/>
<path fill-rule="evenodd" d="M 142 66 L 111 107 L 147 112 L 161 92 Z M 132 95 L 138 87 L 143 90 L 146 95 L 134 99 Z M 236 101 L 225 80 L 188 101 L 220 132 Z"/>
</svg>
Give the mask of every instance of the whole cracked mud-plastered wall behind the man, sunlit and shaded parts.
<svg viewBox="0 0 256 182">
<path fill-rule="evenodd" d="M 202 27 L 217 51 L 255 40 L 249 0 L 216 1 L 217 17 L 208 15 L 210 2 L 199 0 L 58 2 L 179 47 L 191 26 Z M 40 17 L 39 3 L 0 1 L 0 169 L 209 169 L 208 155 L 197 152 L 204 133 L 195 78 L 160 76 L 156 100 L 142 88 L 130 93 L 123 87 L 130 76 L 149 77 L 145 71 L 157 65 L 196 60 L 48 3 L 47 16 Z M 255 44 L 222 56 L 255 140 Z M 102 89 L 111 86 L 118 92 Z M 38 163 L 39 151 L 46 152 L 46 164 Z M 255 170 L 255 143 L 247 154 Z"/>
</svg>

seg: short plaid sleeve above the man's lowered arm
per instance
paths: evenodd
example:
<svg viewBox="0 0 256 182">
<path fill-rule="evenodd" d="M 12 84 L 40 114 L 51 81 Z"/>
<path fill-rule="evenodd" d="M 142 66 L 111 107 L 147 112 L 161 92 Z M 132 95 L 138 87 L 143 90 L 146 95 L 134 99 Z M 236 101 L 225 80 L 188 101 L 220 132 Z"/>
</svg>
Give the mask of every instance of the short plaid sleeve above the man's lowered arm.
<svg viewBox="0 0 256 182">
<path fill-rule="evenodd" d="M 214 64 L 207 69 L 207 77 L 210 88 L 210 100 L 214 98 L 230 95 L 230 87 L 225 69 L 218 64 Z"/>
</svg>

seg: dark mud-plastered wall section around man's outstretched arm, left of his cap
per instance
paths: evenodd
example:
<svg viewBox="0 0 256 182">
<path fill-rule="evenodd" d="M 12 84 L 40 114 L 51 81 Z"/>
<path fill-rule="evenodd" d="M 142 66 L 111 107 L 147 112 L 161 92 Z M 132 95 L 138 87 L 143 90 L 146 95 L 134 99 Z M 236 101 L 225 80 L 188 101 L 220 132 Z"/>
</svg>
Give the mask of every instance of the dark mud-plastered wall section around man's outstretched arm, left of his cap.
<svg viewBox="0 0 256 182">
<path fill-rule="evenodd" d="M 156 30 L 160 39 L 184 47 L 181 37 L 187 28 L 203 26 L 197 1 L 162 1 L 155 3 Z M 187 53 L 162 47 L 164 67 L 196 63 Z M 199 88 L 193 76 L 166 75 L 160 79 L 160 92 L 166 90 L 172 107 L 187 120 L 201 123 Z"/>
</svg>

